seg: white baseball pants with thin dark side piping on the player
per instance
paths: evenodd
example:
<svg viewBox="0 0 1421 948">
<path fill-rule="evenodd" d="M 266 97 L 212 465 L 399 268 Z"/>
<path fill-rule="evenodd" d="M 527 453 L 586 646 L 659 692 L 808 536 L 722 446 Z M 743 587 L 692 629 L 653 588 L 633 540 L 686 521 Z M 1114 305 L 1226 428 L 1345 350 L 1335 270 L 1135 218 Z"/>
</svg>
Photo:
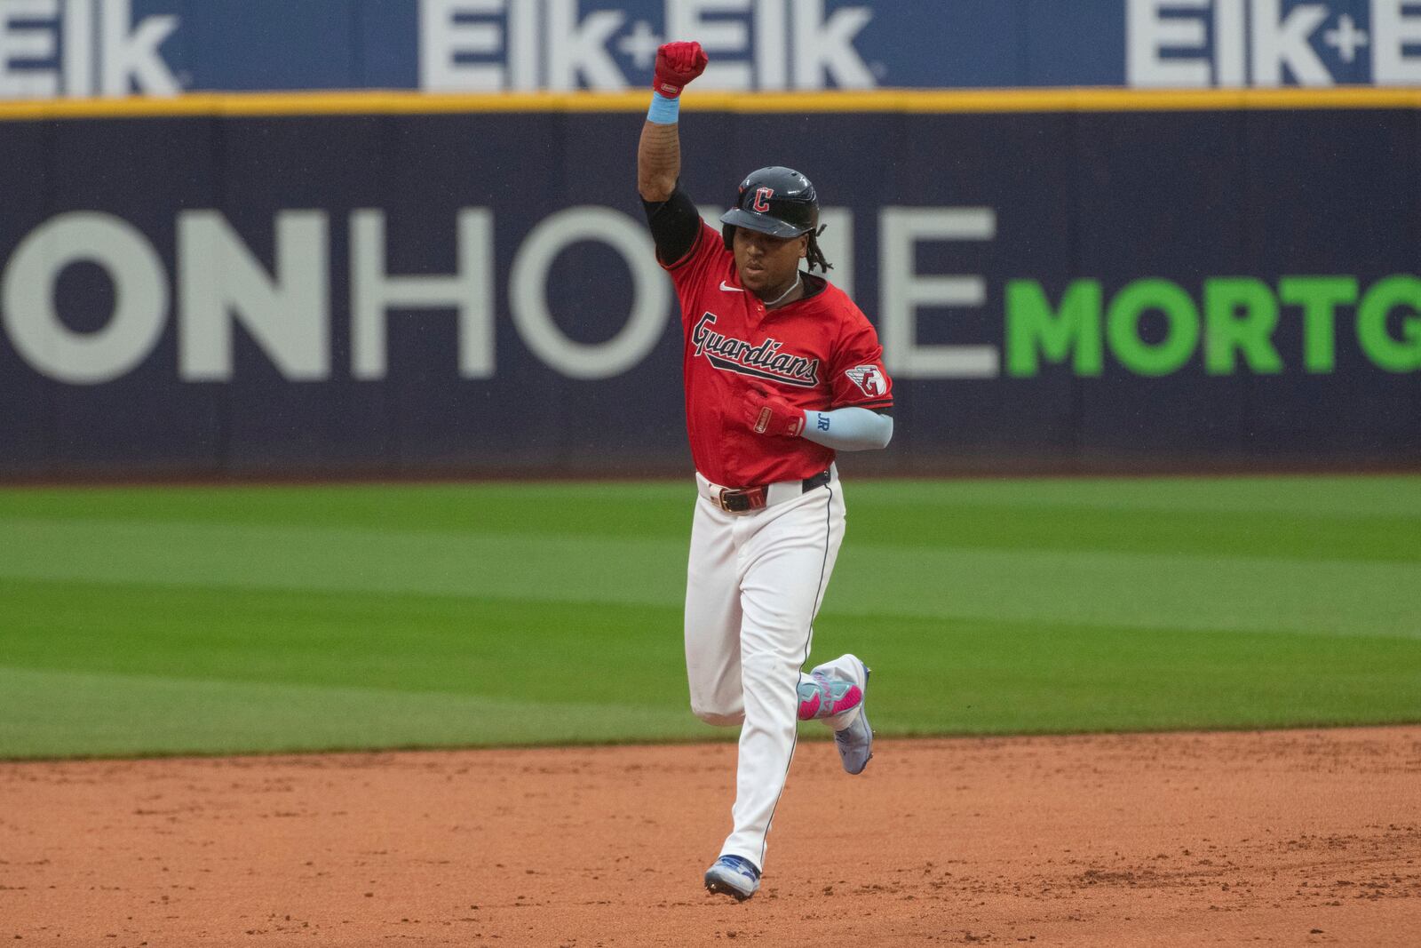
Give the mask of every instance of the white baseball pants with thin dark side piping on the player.
<svg viewBox="0 0 1421 948">
<path fill-rule="evenodd" d="M 691 709 L 706 723 L 743 723 L 735 827 L 720 854 L 763 868 L 799 733 L 800 669 L 844 540 L 844 492 L 837 476 L 791 499 L 783 499 L 790 485 L 772 485 L 769 506 L 728 513 L 712 500 L 719 488 L 696 482 L 685 617 Z"/>
</svg>

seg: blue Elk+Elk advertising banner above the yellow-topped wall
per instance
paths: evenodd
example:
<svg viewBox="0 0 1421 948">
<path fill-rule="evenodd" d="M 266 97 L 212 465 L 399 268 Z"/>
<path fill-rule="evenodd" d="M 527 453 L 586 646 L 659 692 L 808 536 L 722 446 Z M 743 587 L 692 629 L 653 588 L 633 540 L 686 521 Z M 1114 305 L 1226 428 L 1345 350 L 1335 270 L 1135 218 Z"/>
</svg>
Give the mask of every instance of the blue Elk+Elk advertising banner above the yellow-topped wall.
<svg viewBox="0 0 1421 948">
<path fill-rule="evenodd" d="M 1412 0 L 0 0 L 0 98 L 1421 85 Z"/>
</svg>

